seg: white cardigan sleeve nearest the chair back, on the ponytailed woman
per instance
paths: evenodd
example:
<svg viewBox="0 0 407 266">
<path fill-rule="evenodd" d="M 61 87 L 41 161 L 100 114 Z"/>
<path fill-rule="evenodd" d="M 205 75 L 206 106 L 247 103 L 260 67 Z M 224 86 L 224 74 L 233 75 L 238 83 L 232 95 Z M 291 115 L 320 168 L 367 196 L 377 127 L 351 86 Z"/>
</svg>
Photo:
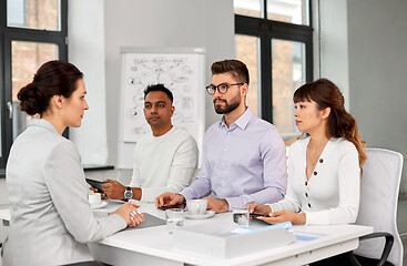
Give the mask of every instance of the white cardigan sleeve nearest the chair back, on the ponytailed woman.
<svg viewBox="0 0 407 266">
<path fill-rule="evenodd" d="M 305 213 L 306 224 L 355 223 L 359 208 L 360 168 L 358 152 L 352 143 L 344 147 L 338 163 L 338 206 L 319 212 Z"/>
</svg>

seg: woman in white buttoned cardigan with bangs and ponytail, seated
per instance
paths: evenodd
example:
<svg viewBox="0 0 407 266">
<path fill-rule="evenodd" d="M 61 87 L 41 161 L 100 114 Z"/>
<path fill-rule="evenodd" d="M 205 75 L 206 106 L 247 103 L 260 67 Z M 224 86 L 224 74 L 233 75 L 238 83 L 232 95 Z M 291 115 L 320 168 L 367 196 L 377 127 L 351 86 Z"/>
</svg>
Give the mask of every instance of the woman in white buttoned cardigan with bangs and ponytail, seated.
<svg viewBox="0 0 407 266">
<path fill-rule="evenodd" d="M 354 223 L 366 161 L 356 121 L 346 112 L 339 89 L 326 79 L 304 84 L 293 99 L 304 136 L 289 149 L 287 193 L 277 203 L 250 204 L 251 213 L 264 215 L 257 219 L 269 224 Z"/>
</svg>

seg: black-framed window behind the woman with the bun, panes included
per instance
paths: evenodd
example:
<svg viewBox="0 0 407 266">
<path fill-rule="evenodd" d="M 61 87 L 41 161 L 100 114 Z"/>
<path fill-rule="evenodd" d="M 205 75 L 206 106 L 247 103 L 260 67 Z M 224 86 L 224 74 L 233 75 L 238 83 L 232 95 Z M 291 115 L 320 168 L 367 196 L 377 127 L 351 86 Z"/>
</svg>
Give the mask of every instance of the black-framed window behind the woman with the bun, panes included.
<svg viewBox="0 0 407 266">
<path fill-rule="evenodd" d="M 0 168 L 31 117 L 17 93 L 49 60 L 68 60 L 67 0 L 0 0 Z"/>
</svg>

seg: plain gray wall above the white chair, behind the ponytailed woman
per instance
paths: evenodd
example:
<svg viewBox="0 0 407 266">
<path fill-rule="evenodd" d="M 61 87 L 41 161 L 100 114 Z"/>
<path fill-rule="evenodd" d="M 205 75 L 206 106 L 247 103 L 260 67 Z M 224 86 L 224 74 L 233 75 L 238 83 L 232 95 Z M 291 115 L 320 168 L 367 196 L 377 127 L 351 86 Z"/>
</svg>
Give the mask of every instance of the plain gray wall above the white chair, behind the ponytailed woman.
<svg viewBox="0 0 407 266">
<path fill-rule="evenodd" d="M 348 0 L 352 114 L 367 146 L 400 152 L 407 192 L 407 1 Z"/>
</svg>

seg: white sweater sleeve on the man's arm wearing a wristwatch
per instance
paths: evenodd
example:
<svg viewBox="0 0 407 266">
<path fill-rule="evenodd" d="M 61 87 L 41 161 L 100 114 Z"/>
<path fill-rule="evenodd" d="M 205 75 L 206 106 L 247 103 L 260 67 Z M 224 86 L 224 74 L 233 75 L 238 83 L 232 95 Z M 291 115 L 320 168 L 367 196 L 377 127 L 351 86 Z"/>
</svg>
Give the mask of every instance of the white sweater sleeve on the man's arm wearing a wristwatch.
<svg viewBox="0 0 407 266">
<path fill-rule="evenodd" d="M 169 156 L 172 156 L 169 154 Z M 167 184 L 164 187 L 142 187 L 141 201 L 154 202 L 155 197 L 164 192 L 180 193 L 191 182 L 192 174 L 197 165 L 197 146 L 192 136 L 189 136 L 173 154 Z"/>
</svg>

